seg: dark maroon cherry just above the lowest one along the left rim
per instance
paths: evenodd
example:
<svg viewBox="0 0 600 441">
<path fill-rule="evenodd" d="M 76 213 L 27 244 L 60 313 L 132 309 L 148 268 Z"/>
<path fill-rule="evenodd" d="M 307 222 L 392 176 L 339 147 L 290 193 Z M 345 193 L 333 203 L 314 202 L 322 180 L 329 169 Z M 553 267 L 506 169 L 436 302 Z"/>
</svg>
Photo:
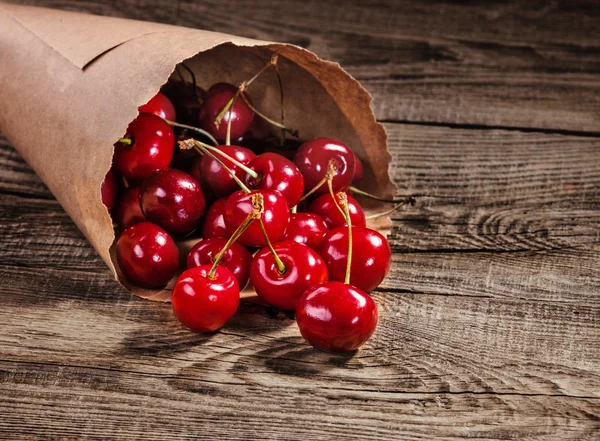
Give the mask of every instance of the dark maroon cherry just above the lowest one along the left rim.
<svg viewBox="0 0 600 441">
<path fill-rule="evenodd" d="M 206 209 L 200 185 L 173 168 L 157 171 L 142 182 L 140 204 L 146 219 L 179 236 L 194 231 Z"/>
</svg>

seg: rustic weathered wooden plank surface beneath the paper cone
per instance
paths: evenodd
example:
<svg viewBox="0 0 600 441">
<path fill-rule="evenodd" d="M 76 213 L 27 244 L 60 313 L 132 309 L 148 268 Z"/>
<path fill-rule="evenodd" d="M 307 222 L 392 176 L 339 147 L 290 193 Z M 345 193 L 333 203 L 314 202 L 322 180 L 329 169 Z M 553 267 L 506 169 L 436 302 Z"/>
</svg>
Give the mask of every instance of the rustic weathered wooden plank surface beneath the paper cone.
<svg viewBox="0 0 600 441">
<path fill-rule="evenodd" d="M 0 138 L 0 437 L 600 439 L 596 0 L 26 3 L 339 61 L 419 202 L 377 333 L 333 356 L 259 306 L 203 336 L 130 296 Z"/>
</svg>

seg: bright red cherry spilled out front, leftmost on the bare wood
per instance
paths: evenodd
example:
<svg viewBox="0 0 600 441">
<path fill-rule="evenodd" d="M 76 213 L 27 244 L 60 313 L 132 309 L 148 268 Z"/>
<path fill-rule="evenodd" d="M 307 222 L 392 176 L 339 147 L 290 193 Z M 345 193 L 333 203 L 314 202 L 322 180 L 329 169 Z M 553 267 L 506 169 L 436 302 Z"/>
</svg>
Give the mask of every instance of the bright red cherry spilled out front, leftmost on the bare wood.
<svg viewBox="0 0 600 441">
<path fill-rule="evenodd" d="M 173 287 L 171 304 L 179 322 L 196 332 L 213 332 L 233 317 L 240 303 L 235 276 L 224 266 L 185 270 Z M 212 273 L 212 274 L 211 274 Z"/>
</svg>

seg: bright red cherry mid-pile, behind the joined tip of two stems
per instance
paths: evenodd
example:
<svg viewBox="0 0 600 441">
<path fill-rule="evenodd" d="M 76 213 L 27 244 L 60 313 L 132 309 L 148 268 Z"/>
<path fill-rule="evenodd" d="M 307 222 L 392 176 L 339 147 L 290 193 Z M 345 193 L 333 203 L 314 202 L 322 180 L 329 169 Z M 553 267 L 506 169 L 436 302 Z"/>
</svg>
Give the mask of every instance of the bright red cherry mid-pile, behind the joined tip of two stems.
<svg viewBox="0 0 600 441">
<path fill-rule="evenodd" d="M 277 242 L 285 233 L 290 222 L 290 212 L 285 198 L 278 191 L 254 190 L 246 194 L 242 190 L 233 193 L 225 203 L 225 225 L 229 234 L 244 222 L 252 213 L 251 195 L 261 193 L 264 198 L 262 221 L 265 231 L 272 242 Z M 263 236 L 260 224 L 254 221 L 240 236 L 238 242 L 248 247 L 264 247 L 267 242 Z"/>
</svg>

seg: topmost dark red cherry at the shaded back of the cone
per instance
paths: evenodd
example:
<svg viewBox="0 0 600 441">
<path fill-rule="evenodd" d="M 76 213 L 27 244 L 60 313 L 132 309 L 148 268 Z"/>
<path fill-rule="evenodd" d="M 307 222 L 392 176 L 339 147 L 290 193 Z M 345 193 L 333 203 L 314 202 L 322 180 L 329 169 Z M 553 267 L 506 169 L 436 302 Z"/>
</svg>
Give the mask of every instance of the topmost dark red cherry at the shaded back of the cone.
<svg viewBox="0 0 600 441">
<path fill-rule="evenodd" d="M 233 84 L 217 83 L 208 89 L 204 98 L 204 104 L 200 110 L 200 125 L 219 141 L 225 140 L 227 136 L 229 119 L 231 119 L 231 139 L 243 136 L 250 128 L 250 124 L 252 124 L 254 112 L 248 107 L 241 96 L 237 97 L 233 106 L 225 113 L 218 127 L 215 124 L 215 119 L 225 108 L 229 100 L 233 98 L 237 90 L 238 88 Z M 244 96 L 252 103 L 247 94 L 244 94 Z"/>
</svg>

